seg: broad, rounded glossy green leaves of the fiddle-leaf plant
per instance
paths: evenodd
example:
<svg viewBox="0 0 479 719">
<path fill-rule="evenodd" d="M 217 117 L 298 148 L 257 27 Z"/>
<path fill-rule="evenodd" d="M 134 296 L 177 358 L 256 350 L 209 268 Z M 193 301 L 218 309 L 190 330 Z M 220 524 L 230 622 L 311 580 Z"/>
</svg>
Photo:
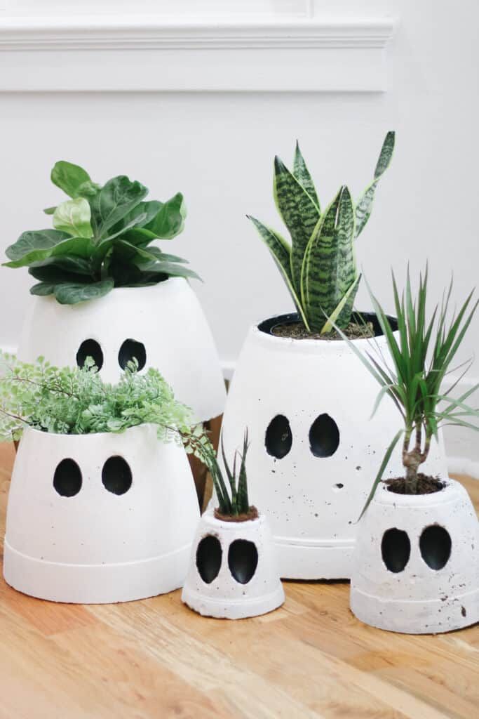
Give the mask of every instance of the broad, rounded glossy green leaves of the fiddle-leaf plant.
<svg viewBox="0 0 479 719">
<path fill-rule="evenodd" d="M 186 260 L 152 244 L 182 232 L 185 202 L 145 201 L 148 189 L 124 175 L 102 187 L 70 162 L 57 162 L 52 183 L 70 200 L 45 210 L 53 228 L 30 230 L 6 249 L 6 267 L 28 267 L 33 295 L 54 295 L 75 304 L 106 295 L 114 287 L 154 285 L 170 276 L 195 278 Z"/>
</svg>

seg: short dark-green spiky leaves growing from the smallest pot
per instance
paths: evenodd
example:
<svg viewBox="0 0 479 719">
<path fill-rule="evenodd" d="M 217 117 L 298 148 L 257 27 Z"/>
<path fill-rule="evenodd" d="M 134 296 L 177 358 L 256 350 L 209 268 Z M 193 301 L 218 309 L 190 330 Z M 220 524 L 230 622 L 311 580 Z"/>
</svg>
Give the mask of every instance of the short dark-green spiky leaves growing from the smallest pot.
<svg viewBox="0 0 479 719">
<path fill-rule="evenodd" d="M 218 505 L 220 513 L 224 516 L 237 517 L 240 514 L 247 514 L 250 510 L 248 500 L 248 480 L 246 477 L 246 454 L 248 454 L 248 430 L 245 431 L 243 439 L 243 454 L 235 452 L 233 458 L 233 469 L 228 465 L 228 461 L 225 456 L 225 448 L 223 446 L 223 439 L 221 440 L 221 453 L 223 455 L 223 464 L 225 467 L 225 474 L 228 479 L 230 491 L 226 487 L 226 482 L 223 477 L 223 472 L 215 458 L 213 449 L 210 451 L 209 457 L 206 459 L 206 464 L 213 477 L 213 485 L 215 487 L 215 493 L 218 498 Z M 240 457 L 239 470 L 237 470 L 238 455 Z M 237 474 L 238 471 L 238 474 Z"/>
</svg>

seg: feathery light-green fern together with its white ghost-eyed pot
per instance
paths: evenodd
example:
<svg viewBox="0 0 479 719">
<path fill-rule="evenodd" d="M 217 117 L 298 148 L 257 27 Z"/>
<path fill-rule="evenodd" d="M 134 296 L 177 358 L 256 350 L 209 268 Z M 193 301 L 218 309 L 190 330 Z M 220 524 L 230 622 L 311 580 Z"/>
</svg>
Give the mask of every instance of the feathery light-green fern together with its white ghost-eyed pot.
<svg viewBox="0 0 479 719">
<path fill-rule="evenodd" d="M 157 370 L 103 383 L 4 355 L 0 438 L 20 439 L 4 543 L 6 582 L 42 599 L 124 602 L 185 579 L 199 510 L 188 452 L 209 444 Z M 170 441 L 175 440 L 176 441 Z"/>
</svg>

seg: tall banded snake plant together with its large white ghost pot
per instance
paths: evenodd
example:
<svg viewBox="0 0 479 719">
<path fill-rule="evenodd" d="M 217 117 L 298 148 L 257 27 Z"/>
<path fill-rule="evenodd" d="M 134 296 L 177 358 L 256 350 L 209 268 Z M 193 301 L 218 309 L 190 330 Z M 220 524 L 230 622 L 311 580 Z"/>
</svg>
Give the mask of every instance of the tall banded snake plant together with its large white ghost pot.
<svg viewBox="0 0 479 719">
<path fill-rule="evenodd" d="M 368 423 L 374 380 L 332 326 L 355 338 L 361 352 L 373 335 L 386 348 L 376 316 L 353 312 L 360 281 L 355 241 L 393 150 L 389 132 L 373 180 L 358 201 L 343 186 L 325 209 L 299 147 L 292 172 L 276 157 L 274 198 L 291 244 L 251 218 L 296 312 L 250 329 L 228 393 L 223 441 L 227 454 L 232 452 L 238 432 L 248 426 L 249 483 L 271 522 L 282 577 L 350 577 L 355 521 L 376 458 L 396 426 L 392 402 L 383 403 Z M 400 464 L 394 459 L 393 472 Z M 432 446 L 428 467 L 447 472 L 441 441 Z"/>
</svg>

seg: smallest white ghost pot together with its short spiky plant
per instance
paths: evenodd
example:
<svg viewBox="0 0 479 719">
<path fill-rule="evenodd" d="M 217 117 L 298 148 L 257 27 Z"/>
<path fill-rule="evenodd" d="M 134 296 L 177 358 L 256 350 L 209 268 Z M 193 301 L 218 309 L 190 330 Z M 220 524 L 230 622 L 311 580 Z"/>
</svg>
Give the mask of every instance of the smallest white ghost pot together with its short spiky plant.
<svg viewBox="0 0 479 719">
<path fill-rule="evenodd" d="M 284 590 L 266 517 L 248 500 L 248 433 L 238 475 L 238 453 L 231 470 L 222 451 L 230 490 L 210 449 L 208 466 L 218 508 L 207 510 L 198 524 L 182 600 L 206 616 L 242 619 L 278 608 Z"/>
</svg>

